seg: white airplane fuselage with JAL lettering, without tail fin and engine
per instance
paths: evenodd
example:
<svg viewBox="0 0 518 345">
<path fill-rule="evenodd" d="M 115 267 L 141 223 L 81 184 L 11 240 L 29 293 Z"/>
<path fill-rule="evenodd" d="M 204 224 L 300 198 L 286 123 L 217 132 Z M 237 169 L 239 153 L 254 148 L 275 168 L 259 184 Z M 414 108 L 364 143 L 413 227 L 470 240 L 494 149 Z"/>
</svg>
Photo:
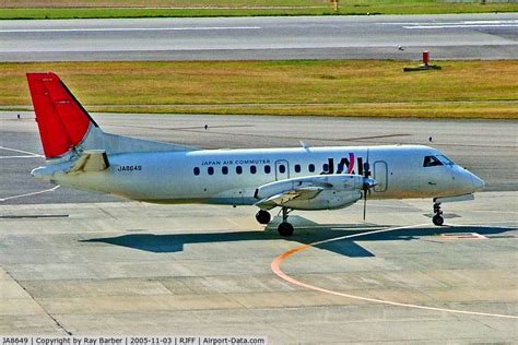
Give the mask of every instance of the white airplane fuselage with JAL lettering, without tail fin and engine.
<svg viewBox="0 0 518 345">
<path fill-rule="evenodd" d="M 420 145 L 140 152 L 108 159 L 104 171 L 66 174 L 70 164 L 60 163 L 33 175 L 153 203 L 250 205 L 258 202 L 259 186 L 316 175 L 364 175 L 365 163 L 376 180 L 370 199 L 452 197 L 483 188 L 475 175 Z"/>
</svg>

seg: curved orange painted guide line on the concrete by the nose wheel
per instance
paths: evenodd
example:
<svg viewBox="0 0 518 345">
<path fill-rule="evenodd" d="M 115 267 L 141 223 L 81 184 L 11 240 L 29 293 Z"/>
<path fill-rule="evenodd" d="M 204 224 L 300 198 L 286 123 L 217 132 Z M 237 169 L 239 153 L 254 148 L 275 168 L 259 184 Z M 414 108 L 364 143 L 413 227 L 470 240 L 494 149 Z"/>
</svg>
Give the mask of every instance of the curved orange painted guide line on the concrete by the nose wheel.
<svg viewBox="0 0 518 345">
<path fill-rule="evenodd" d="M 469 314 L 469 316 L 479 316 L 479 317 L 491 317 L 491 318 L 501 318 L 501 319 L 518 319 L 518 316 L 509 316 L 509 314 L 498 314 L 498 313 L 488 313 L 488 312 L 479 312 L 479 311 L 468 311 L 468 310 L 459 310 L 459 309 L 448 309 L 448 308 L 438 308 L 438 307 L 427 307 L 427 306 L 421 306 L 421 305 L 412 305 L 412 304 L 402 304 L 402 302 L 396 302 L 396 301 L 390 301 L 390 300 L 384 300 L 384 299 L 376 299 L 376 298 L 368 298 L 368 297 L 362 297 L 362 296 L 356 296 L 356 295 L 350 295 L 350 294 L 343 294 L 334 290 L 330 290 L 327 288 L 318 287 L 315 285 L 310 285 L 304 282 L 301 282 L 289 274 L 284 273 L 284 271 L 281 270 L 281 262 L 291 255 L 304 251 L 308 248 L 314 248 L 319 245 L 325 245 L 325 243 L 330 243 L 333 241 L 339 241 L 343 239 L 351 239 L 351 238 L 357 238 L 362 236 L 368 236 L 368 235 L 374 235 L 374 234 L 382 234 L 382 233 L 388 233 L 388 231 L 395 231 L 395 230 L 401 230 L 401 229 L 409 229 L 409 228 L 417 228 L 422 226 L 428 226 L 429 224 L 417 224 L 417 225 L 408 225 L 408 226 L 398 226 L 398 227 L 389 227 L 386 229 L 380 229 L 380 230 L 373 230 L 373 231 L 367 231 L 367 233 L 362 233 L 362 234 L 353 234 L 353 235 L 346 235 L 346 236 L 341 236 L 337 238 L 331 238 L 327 240 L 321 240 L 317 242 L 313 242 L 309 245 L 303 245 L 298 246 L 295 248 L 292 248 L 287 250 L 286 252 L 280 254 L 276 257 L 270 264 L 270 267 L 272 272 L 279 276 L 280 278 L 292 283 L 294 285 L 305 287 L 308 289 L 313 289 L 319 293 L 323 294 L 329 294 L 329 295 L 334 295 L 334 296 L 341 296 L 341 297 L 346 297 L 351 299 L 356 299 L 356 300 L 363 300 L 363 301 L 369 301 L 369 302 L 375 302 L 375 304 L 381 304 L 381 305 L 389 305 L 393 307 L 403 307 L 403 308 L 412 308 L 412 309 L 421 309 L 421 310 L 429 310 L 429 311 L 439 311 L 439 312 L 448 312 L 448 313 L 454 313 L 454 314 Z M 462 225 L 452 225 L 452 226 L 462 226 Z M 482 227 L 480 225 L 480 227 Z M 507 228 L 507 227 L 503 227 Z M 510 229 L 510 228 L 509 228 Z"/>
</svg>

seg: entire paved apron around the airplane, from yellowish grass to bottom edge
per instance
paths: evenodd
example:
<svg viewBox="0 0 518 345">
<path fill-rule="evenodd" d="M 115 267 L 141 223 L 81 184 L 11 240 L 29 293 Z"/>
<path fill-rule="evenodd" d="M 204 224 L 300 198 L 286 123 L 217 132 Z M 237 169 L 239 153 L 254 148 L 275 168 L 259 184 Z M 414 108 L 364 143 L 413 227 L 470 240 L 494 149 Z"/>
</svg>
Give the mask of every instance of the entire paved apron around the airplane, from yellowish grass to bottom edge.
<svg viewBox="0 0 518 345">
<path fill-rule="evenodd" d="M 518 342 L 516 121 L 93 115 L 105 131 L 202 147 L 426 144 L 432 135 L 493 190 L 445 204 L 444 227 L 431 223 L 431 200 L 372 201 L 367 223 L 361 204 L 294 212 L 286 239 L 278 217 L 256 223 L 256 207 L 37 194 L 52 186 L 28 175 L 43 158 L 34 116 L 21 115 L 0 115 L 0 334 Z M 304 286 L 271 270 L 301 245 L 373 230 L 388 231 L 283 260 Z"/>
</svg>

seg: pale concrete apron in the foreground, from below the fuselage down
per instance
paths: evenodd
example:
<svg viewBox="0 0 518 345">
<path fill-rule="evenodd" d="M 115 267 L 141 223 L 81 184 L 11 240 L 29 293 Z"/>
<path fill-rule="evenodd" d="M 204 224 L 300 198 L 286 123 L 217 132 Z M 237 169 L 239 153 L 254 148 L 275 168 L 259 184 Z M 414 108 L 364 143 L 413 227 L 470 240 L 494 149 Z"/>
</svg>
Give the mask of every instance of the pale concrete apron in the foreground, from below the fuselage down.
<svg viewBox="0 0 518 345">
<path fill-rule="evenodd" d="M 0 204 L 0 334 L 515 343 L 517 197 L 450 204 L 446 223 L 456 226 L 440 228 L 423 215 L 428 201 L 373 201 L 368 223 L 361 205 L 295 212 L 290 239 L 279 237 L 279 218 L 258 225 L 255 207 Z M 270 269 L 304 243 L 409 225 L 281 264 L 299 282 L 353 297 L 293 285 Z"/>
</svg>

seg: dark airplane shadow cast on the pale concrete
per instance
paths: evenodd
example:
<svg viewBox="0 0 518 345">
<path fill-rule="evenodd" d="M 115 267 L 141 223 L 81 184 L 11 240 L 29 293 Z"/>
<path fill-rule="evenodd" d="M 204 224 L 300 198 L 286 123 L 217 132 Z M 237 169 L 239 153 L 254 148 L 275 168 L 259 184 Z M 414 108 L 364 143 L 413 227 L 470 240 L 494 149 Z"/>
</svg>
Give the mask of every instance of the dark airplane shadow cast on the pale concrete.
<svg viewBox="0 0 518 345">
<path fill-rule="evenodd" d="M 296 218 L 296 219 L 295 219 Z M 295 234 L 289 238 L 282 238 L 296 245 L 308 245 L 341 236 L 368 233 L 376 229 L 384 229 L 387 225 L 375 224 L 315 224 L 299 216 L 290 217 L 295 226 Z M 478 233 L 480 235 L 497 235 L 509 231 L 509 228 L 502 227 L 429 227 L 405 228 L 388 233 L 365 235 L 354 240 L 340 240 L 330 243 L 316 246 L 317 248 L 329 250 L 338 254 L 350 258 L 369 258 L 374 253 L 360 246 L 362 241 L 377 240 L 414 240 L 422 237 L 437 236 L 438 234 L 451 233 Z M 276 233 L 275 219 L 266 227 L 264 230 L 249 231 L 223 231 L 223 233 L 188 233 L 173 235 L 154 235 L 150 230 L 132 229 L 131 231 L 142 231 L 145 234 L 130 234 L 116 237 L 102 237 L 80 240 L 89 243 L 107 243 L 121 246 L 155 253 L 179 252 L 184 250 L 185 245 L 211 243 L 211 242 L 237 242 L 252 240 L 279 240 L 281 237 Z M 296 246 L 295 245 L 295 246 Z"/>
</svg>

